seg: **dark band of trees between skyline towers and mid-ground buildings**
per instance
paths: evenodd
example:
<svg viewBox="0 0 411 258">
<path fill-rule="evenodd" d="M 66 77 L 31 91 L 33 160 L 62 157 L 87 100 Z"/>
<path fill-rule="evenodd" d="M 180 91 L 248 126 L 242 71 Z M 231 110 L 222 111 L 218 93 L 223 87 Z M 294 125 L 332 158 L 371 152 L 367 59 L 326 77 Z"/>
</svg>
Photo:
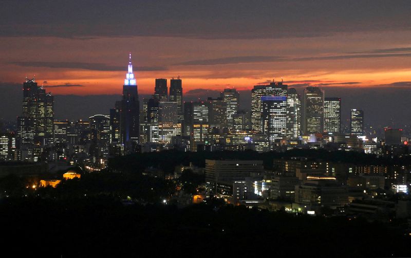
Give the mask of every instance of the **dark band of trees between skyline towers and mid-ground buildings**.
<svg viewBox="0 0 411 258">
<path fill-rule="evenodd" d="M 323 159 L 327 161 L 346 162 L 353 164 L 411 164 L 411 156 L 401 158 L 386 158 L 375 155 L 346 152 L 346 151 L 326 151 L 326 150 L 301 150 L 294 149 L 286 152 L 266 152 L 255 151 L 237 152 L 182 152 L 168 150 L 162 152 L 136 153 L 124 157 L 115 157 L 109 160 L 108 167 L 111 170 L 123 172 L 141 173 L 145 168 L 153 167 L 161 169 L 165 174 L 174 172 L 176 165 L 189 165 L 190 162 L 198 167 L 205 166 L 206 159 L 239 159 L 239 160 L 263 160 L 266 169 L 272 169 L 274 158 L 306 157 L 312 159 Z"/>
</svg>

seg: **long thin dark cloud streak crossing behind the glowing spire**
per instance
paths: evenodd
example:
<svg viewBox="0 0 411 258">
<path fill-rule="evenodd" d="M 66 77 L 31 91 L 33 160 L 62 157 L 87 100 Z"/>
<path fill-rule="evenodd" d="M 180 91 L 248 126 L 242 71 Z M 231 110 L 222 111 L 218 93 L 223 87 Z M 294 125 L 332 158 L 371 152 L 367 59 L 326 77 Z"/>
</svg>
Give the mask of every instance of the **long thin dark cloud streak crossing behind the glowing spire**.
<svg viewBox="0 0 411 258">
<path fill-rule="evenodd" d="M 124 71 L 125 66 L 112 66 L 102 63 L 81 63 L 81 62 L 10 62 L 10 64 L 23 66 L 23 67 L 48 67 L 48 68 L 69 68 L 69 69 L 84 69 L 95 71 Z M 164 71 L 166 67 L 161 66 L 134 66 L 137 71 Z"/>
</svg>

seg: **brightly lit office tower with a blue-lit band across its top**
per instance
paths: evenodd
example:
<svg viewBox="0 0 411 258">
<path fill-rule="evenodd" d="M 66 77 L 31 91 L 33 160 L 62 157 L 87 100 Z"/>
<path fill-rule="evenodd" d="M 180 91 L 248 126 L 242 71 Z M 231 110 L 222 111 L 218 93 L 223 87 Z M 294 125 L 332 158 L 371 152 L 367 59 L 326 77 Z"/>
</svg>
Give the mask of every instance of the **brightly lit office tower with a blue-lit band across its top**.
<svg viewBox="0 0 411 258">
<path fill-rule="evenodd" d="M 287 97 L 261 97 L 261 133 L 271 142 L 286 137 L 287 132 Z"/>
</svg>

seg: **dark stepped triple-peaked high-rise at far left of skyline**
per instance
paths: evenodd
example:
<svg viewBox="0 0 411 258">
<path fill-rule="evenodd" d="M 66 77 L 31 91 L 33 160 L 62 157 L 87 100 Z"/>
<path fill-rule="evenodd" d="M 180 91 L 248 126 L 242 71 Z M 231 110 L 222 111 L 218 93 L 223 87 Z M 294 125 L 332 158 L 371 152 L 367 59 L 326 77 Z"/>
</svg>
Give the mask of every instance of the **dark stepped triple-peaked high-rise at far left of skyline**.
<svg viewBox="0 0 411 258">
<path fill-rule="evenodd" d="M 23 113 L 18 118 L 18 136 L 32 137 L 21 140 L 23 143 L 38 142 L 41 145 L 53 143 L 54 97 L 39 87 L 35 79 L 23 83 Z M 32 131 L 34 134 L 32 134 Z"/>
</svg>

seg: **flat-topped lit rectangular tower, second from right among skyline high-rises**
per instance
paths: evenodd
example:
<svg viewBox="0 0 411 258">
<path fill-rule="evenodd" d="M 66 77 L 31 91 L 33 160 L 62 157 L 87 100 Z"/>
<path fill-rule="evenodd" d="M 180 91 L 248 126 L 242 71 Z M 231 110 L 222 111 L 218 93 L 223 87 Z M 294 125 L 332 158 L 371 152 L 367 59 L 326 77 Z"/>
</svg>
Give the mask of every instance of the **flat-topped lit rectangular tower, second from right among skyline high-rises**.
<svg viewBox="0 0 411 258">
<path fill-rule="evenodd" d="M 324 131 L 327 133 L 341 132 L 341 98 L 325 98 Z"/>
</svg>

